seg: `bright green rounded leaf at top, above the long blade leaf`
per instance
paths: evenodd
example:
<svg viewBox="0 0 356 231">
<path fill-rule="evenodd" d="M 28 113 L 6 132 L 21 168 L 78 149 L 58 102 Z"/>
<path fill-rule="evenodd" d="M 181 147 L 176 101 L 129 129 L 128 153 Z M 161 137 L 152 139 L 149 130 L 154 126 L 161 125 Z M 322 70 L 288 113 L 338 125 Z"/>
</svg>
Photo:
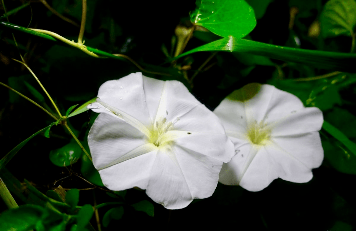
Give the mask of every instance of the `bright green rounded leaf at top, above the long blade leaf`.
<svg viewBox="0 0 356 231">
<path fill-rule="evenodd" d="M 256 26 L 253 9 L 244 0 L 197 0 L 196 4 L 190 21 L 216 35 L 241 38 Z"/>
</svg>

